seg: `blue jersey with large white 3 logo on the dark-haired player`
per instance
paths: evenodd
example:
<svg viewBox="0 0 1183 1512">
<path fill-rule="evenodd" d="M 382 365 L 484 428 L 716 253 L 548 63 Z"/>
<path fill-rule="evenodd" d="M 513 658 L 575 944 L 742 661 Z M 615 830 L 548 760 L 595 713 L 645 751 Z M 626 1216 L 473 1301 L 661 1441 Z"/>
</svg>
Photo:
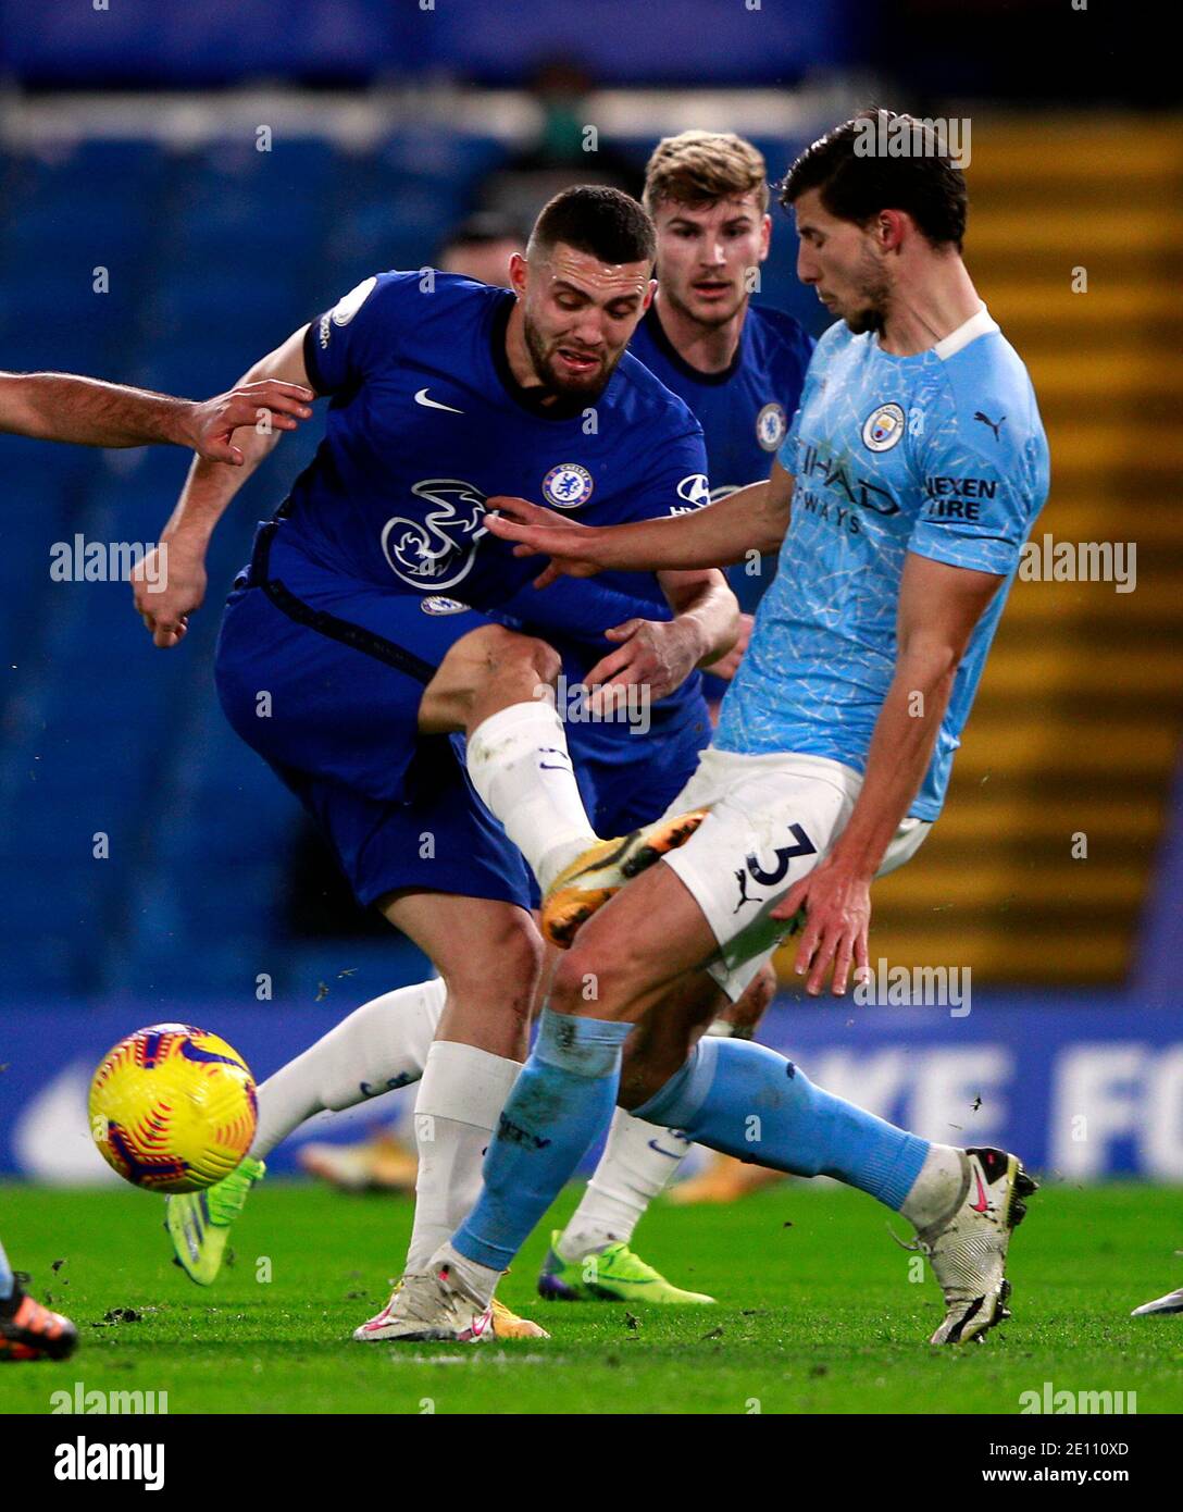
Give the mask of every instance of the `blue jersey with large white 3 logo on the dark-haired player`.
<svg viewBox="0 0 1183 1512">
<path fill-rule="evenodd" d="M 491 494 L 597 525 L 707 500 L 700 423 L 629 352 L 594 401 L 544 408 L 517 386 L 512 304 L 455 274 L 388 272 L 311 322 L 305 366 L 332 402 L 283 507 L 290 540 L 351 578 L 490 611 L 541 569 L 485 529 Z M 625 582 L 668 612 L 656 578 Z"/>
</svg>

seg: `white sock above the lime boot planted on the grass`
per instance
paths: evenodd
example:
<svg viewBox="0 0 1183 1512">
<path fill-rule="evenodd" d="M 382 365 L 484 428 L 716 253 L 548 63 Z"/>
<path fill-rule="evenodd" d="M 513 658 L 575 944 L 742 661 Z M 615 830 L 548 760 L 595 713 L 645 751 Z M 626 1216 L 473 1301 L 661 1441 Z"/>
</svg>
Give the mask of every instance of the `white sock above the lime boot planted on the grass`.
<svg viewBox="0 0 1183 1512">
<path fill-rule="evenodd" d="M 568 1264 L 633 1237 L 645 1208 L 690 1152 L 678 1129 L 659 1128 L 616 1108 L 600 1164 L 558 1249 Z"/>
</svg>

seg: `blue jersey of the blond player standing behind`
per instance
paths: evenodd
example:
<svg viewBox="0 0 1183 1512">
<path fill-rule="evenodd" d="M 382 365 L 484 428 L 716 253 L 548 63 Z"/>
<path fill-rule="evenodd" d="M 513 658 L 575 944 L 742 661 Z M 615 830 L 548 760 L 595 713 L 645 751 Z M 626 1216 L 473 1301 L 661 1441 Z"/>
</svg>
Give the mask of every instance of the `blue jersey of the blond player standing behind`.
<svg viewBox="0 0 1183 1512">
<path fill-rule="evenodd" d="M 718 373 L 692 367 L 662 328 L 657 301 L 645 311 L 629 351 L 684 399 L 707 442 L 712 499 L 724 499 L 749 482 L 763 482 L 801 402 L 813 337 L 781 310 L 749 304 L 736 355 Z M 727 578 L 740 608 L 752 612 L 771 578 L 771 559 L 760 575 L 743 565 Z"/>
</svg>

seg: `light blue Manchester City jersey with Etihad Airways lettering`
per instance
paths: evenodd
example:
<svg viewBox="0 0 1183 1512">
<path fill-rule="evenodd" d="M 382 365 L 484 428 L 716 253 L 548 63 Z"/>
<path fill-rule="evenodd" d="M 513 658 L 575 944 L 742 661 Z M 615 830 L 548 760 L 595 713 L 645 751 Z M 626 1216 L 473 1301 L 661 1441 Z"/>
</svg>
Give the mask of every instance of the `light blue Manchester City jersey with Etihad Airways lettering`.
<svg viewBox="0 0 1183 1512">
<path fill-rule="evenodd" d="M 817 345 L 780 461 L 796 479 L 790 525 L 715 744 L 864 771 L 894 671 L 907 552 L 997 573 L 1006 581 L 970 637 L 910 809 L 934 820 L 1047 497 L 1047 438 L 1027 370 L 985 310 L 914 357 L 839 322 Z"/>
</svg>

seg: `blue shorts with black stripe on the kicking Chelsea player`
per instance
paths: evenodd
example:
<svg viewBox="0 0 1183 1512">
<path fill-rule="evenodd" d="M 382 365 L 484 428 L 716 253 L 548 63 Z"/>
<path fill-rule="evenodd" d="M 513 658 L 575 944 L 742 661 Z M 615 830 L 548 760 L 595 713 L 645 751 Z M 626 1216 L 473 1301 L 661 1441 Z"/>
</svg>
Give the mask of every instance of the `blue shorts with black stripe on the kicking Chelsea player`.
<svg viewBox="0 0 1183 1512">
<path fill-rule="evenodd" d="M 363 906 L 396 889 L 536 904 L 529 868 L 468 782 L 464 735 L 419 730 L 423 689 L 449 649 L 491 623 L 441 594 L 329 569 L 284 520 L 258 529 L 222 617 L 218 696 L 313 815 Z M 568 724 L 597 833 L 659 818 L 709 738 L 706 706 L 645 736 Z"/>
</svg>

